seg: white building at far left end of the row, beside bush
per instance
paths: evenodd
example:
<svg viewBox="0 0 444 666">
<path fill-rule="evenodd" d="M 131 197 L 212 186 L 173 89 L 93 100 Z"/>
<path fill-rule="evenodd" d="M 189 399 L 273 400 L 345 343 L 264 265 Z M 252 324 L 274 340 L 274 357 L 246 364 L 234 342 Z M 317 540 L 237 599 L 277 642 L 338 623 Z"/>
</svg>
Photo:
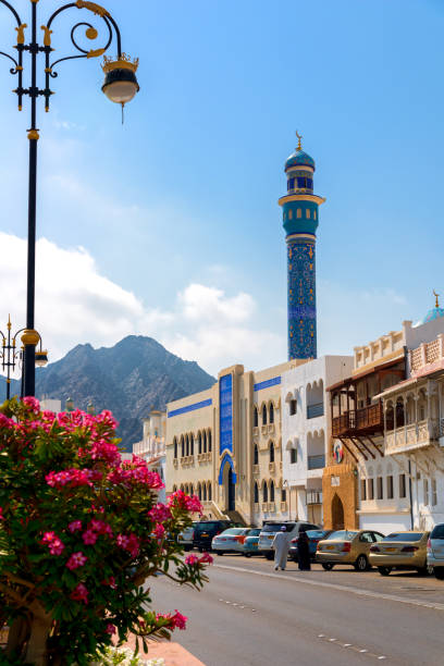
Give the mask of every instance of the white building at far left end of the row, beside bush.
<svg viewBox="0 0 444 666">
<path fill-rule="evenodd" d="M 156 471 L 165 483 L 166 471 L 166 412 L 151 410 L 149 417 L 144 419 L 144 436 L 140 442 L 133 444 L 133 454 L 144 458 L 151 471 Z M 165 489 L 159 491 L 159 502 L 166 498 Z"/>
</svg>

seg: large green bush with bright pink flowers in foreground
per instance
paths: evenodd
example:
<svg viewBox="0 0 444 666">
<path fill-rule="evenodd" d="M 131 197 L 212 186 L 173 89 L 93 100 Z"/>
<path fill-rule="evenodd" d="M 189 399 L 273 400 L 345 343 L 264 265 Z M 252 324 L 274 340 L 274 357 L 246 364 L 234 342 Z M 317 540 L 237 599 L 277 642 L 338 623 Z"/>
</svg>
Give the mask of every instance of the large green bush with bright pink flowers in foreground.
<svg viewBox="0 0 444 666">
<path fill-rule="evenodd" d="M 115 427 L 109 411 L 55 415 L 35 398 L 0 408 L 0 662 L 84 666 L 130 632 L 146 651 L 185 629 L 178 610 L 151 609 L 144 583 L 207 580 L 211 557 L 184 559 L 176 540 L 200 503 L 159 503 L 159 476 L 121 460 Z"/>
</svg>

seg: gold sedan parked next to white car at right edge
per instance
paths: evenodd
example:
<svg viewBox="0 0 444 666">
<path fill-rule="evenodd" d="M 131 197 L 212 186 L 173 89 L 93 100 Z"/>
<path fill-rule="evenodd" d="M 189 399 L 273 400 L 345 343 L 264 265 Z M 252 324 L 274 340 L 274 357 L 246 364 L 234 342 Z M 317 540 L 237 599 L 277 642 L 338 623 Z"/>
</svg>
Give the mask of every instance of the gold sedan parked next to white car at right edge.
<svg viewBox="0 0 444 666">
<path fill-rule="evenodd" d="M 369 563 L 378 567 L 381 576 L 392 569 L 416 569 L 427 574 L 427 542 L 430 532 L 392 532 L 378 544 L 370 546 Z"/>
</svg>

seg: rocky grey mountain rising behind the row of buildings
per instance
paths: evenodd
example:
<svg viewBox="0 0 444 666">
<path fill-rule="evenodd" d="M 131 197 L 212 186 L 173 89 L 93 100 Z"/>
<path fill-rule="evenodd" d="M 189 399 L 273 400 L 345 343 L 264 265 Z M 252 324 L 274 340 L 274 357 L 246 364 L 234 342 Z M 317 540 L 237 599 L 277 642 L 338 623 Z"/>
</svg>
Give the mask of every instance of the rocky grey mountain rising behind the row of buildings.
<svg viewBox="0 0 444 666">
<path fill-rule="evenodd" d="M 141 439 L 141 419 L 150 409 L 164 409 L 166 403 L 209 388 L 214 378 L 195 361 L 184 361 L 152 337 L 130 335 L 113 347 L 94 349 L 77 345 L 64 358 L 36 369 L 36 396 L 67 397 L 85 409 L 111 409 L 120 422 L 122 446 L 131 449 Z M 20 393 L 12 382 L 11 394 Z M 0 400 L 5 399 L 5 382 L 0 381 Z"/>
</svg>

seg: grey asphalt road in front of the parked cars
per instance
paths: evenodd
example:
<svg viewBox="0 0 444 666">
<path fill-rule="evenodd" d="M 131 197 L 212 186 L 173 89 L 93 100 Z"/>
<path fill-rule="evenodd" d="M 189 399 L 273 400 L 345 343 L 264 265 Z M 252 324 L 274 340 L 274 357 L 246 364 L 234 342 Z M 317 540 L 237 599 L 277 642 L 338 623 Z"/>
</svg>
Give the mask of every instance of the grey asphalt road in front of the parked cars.
<svg viewBox="0 0 444 666">
<path fill-rule="evenodd" d="M 206 666 L 444 665 L 444 583 L 432 577 L 224 556 L 203 591 L 159 577 L 151 593 L 157 610 L 188 617 L 174 640 Z"/>
</svg>

